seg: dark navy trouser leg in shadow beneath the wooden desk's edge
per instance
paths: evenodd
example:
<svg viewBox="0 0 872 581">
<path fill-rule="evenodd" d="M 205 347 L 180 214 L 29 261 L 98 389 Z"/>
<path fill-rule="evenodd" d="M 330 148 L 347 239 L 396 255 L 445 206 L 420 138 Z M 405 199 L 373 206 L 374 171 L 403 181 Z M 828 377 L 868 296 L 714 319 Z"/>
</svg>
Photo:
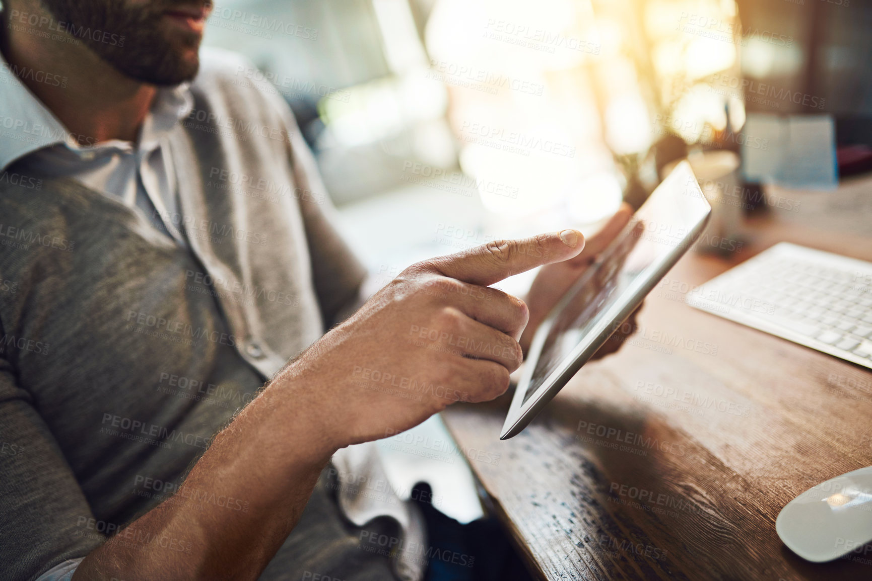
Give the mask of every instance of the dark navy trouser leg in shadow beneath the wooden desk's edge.
<svg viewBox="0 0 872 581">
<path fill-rule="evenodd" d="M 425 581 L 532 581 L 494 517 L 460 524 L 433 508 L 430 485 L 419 483 L 412 498 L 427 523 L 431 555 Z"/>
</svg>

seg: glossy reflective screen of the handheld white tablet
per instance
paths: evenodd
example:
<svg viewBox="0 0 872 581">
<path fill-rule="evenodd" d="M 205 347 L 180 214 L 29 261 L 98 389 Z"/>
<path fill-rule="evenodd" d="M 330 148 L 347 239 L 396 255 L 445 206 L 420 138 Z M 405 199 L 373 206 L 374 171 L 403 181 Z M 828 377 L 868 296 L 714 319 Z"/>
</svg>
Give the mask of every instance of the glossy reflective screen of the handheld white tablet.
<svg viewBox="0 0 872 581">
<path fill-rule="evenodd" d="M 656 284 L 660 277 L 655 274 L 692 243 L 691 233 L 705 220 L 709 206 L 692 174 L 690 179 L 692 187 L 664 181 L 549 314 L 543 323 L 548 334 L 522 404 L 572 361 L 570 355 L 582 342 L 596 340 L 603 326 L 616 330 L 620 323 L 614 317 L 621 307 L 646 282 Z"/>
</svg>

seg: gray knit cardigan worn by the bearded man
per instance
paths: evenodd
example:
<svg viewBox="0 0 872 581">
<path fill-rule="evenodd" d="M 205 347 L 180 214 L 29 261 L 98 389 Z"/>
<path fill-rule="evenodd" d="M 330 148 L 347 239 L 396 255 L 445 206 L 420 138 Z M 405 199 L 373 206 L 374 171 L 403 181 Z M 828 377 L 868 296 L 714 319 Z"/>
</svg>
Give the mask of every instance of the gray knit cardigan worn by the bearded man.
<svg viewBox="0 0 872 581">
<path fill-rule="evenodd" d="M 72 180 L 0 180 L 0 578 L 84 557 L 172 494 L 356 297 L 364 270 L 290 110 L 222 58 L 204 58 L 172 135 L 189 248 Z M 339 511 L 336 472 L 263 579 L 392 578 Z"/>
</svg>

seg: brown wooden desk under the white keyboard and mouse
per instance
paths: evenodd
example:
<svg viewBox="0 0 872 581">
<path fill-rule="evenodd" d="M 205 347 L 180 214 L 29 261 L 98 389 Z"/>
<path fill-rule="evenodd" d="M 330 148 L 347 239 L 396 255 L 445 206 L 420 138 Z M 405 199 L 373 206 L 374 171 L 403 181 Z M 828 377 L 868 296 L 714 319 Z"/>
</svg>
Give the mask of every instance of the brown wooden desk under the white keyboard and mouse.
<svg viewBox="0 0 872 581">
<path fill-rule="evenodd" d="M 667 280 L 699 285 L 779 240 L 872 260 L 868 238 L 766 221 L 752 229 L 732 261 L 688 253 Z M 508 397 L 444 412 L 461 447 L 500 455 L 472 469 L 531 571 L 543 579 L 872 578 L 872 551 L 862 563 L 811 564 L 775 532 L 775 517 L 800 492 L 872 465 L 872 372 L 682 298 L 663 287 L 652 293 L 639 318 L 645 332 L 582 368 L 511 440 L 498 440 Z M 658 352 L 660 339 L 643 338 L 655 331 L 685 347 Z M 691 403 L 667 407 L 680 402 L 660 395 L 666 389 Z"/>
</svg>

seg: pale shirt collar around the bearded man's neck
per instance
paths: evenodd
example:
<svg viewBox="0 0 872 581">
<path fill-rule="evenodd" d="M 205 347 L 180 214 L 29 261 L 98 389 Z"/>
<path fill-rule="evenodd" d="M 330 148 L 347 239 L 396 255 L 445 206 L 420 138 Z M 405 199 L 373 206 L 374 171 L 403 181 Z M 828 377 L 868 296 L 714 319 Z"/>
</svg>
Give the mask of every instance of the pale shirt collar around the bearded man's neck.
<svg viewBox="0 0 872 581">
<path fill-rule="evenodd" d="M 78 145 L 78 139 L 21 82 L 2 54 L 0 103 L 3 103 L 3 110 L 0 111 L 0 172 L 13 161 L 52 145 L 65 145 L 75 152 L 102 149 L 106 146 L 133 146 L 130 142 L 118 139 L 92 147 Z M 139 146 L 146 150 L 154 149 L 160 138 L 193 109 L 194 97 L 189 84 L 161 87 L 151 111 L 140 127 Z"/>
</svg>

